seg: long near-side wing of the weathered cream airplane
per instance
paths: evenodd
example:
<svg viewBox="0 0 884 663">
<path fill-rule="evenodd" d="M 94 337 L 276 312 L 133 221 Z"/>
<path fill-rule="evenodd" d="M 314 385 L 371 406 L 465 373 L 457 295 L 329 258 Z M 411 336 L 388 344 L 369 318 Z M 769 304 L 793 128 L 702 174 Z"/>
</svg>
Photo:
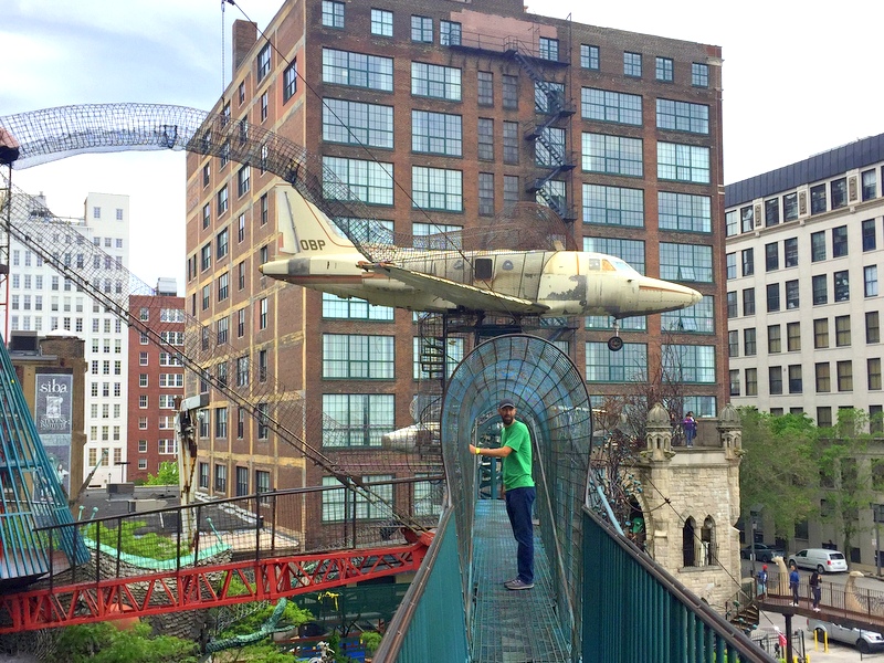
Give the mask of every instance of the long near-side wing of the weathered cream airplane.
<svg viewBox="0 0 884 663">
<path fill-rule="evenodd" d="M 469 311 L 494 311 L 497 313 L 520 313 L 539 315 L 549 311 L 549 306 L 522 297 L 502 295 L 473 285 L 456 283 L 448 278 L 431 276 L 421 272 L 412 272 L 389 263 L 361 264 L 366 270 L 396 278 L 418 290 L 431 293 L 442 299 L 462 306 Z"/>
</svg>

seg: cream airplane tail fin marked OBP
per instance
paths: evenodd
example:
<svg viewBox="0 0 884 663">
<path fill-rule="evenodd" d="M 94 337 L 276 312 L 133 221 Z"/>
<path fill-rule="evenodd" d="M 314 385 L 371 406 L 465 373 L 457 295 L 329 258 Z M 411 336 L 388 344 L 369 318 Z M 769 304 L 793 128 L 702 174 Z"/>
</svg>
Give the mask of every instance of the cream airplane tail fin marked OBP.
<svg viewBox="0 0 884 663">
<path fill-rule="evenodd" d="M 276 187 L 276 224 L 281 253 L 309 255 L 335 251 L 358 253 L 332 220 L 291 185 Z"/>
</svg>

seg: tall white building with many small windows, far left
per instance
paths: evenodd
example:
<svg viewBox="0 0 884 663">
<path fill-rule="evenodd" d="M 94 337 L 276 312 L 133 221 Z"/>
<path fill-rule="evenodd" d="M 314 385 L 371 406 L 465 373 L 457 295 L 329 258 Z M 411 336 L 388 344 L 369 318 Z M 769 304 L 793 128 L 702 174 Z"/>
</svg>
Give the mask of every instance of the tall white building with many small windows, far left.
<svg viewBox="0 0 884 663">
<path fill-rule="evenodd" d="M 31 210 L 32 215 L 41 213 L 39 209 Z M 108 293 L 127 288 L 117 267 L 128 269 L 129 264 L 129 197 L 90 193 L 83 218 L 65 221 L 80 233 L 80 241 L 92 242 L 106 254 L 105 264 L 93 265 L 101 270 L 101 287 Z M 84 253 L 75 245 L 60 246 L 60 251 L 66 264 L 84 266 Z M 124 385 L 128 375 L 128 336 L 123 320 L 14 239 L 10 241 L 9 287 L 6 314 L 10 333 L 30 330 L 44 336 L 60 330 L 86 341 L 85 465 L 74 483 L 78 485 L 86 477 L 104 452 L 106 456 L 93 483 L 125 481 L 125 466 L 119 465 L 125 461 L 127 427 Z"/>
</svg>

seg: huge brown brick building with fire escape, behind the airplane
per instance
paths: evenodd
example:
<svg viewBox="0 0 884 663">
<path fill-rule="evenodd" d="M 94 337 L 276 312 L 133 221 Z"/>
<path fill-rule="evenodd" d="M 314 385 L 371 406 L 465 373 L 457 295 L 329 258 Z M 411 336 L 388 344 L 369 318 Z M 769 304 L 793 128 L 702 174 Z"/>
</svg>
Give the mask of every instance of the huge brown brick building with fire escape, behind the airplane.
<svg viewBox="0 0 884 663">
<path fill-rule="evenodd" d="M 620 352 L 607 348 L 608 319 L 580 320 L 560 345 L 599 394 L 659 373 L 667 344 L 685 409 L 724 406 L 720 49 L 529 14 L 519 0 L 291 1 L 260 38 L 246 22 L 233 32 L 232 81 L 214 112 L 320 155 L 415 245 L 540 201 L 578 246 L 699 290 L 691 309 L 624 320 Z M 410 424 L 413 315 L 262 277 L 257 266 L 276 257 L 280 180 L 194 154 L 187 173 L 186 306 L 241 348 L 224 376 L 263 362 L 308 412 L 348 431 L 343 446 L 318 417 L 303 431 L 344 465 Z M 240 417 L 225 401 L 209 410 Z M 335 481 L 254 422 L 236 428 L 203 425 L 202 490 L 233 494 L 234 474 L 236 492 Z"/>
</svg>

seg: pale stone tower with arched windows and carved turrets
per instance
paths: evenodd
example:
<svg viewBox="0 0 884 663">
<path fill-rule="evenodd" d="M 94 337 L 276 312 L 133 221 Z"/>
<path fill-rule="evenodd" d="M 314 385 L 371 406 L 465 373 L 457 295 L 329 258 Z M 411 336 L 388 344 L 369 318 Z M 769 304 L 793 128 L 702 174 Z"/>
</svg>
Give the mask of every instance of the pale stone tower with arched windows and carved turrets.
<svg viewBox="0 0 884 663">
<path fill-rule="evenodd" d="M 740 578 L 739 415 L 733 406 L 718 420 L 697 422 L 694 448 L 673 446 L 665 408 L 648 413 L 646 446 L 633 469 L 642 491 L 648 552 L 713 608 L 723 610 Z"/>
</svg>

